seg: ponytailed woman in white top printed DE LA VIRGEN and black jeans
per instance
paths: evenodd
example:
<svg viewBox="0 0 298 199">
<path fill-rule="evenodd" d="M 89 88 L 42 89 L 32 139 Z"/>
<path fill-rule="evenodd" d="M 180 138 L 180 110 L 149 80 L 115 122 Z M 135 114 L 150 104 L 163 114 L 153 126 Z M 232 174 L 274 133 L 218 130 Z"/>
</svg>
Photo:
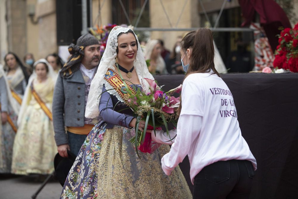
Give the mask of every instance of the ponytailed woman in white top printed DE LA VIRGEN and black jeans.
<svg viewBox="0 0 298 199">
<path fill-rule="evenodd" d="M 162 169 L 170 175 L 188 155 L 193 198 L 249 198 L 257 163 L 241 135 L 233 95 L 215 70 L 211 31 L 188 33 L 181 55 L 186 76 L 177 130 L 171 131 L 177 136 Z M 168 140 L 161 131 L 151 136 Z"/>
</svg>

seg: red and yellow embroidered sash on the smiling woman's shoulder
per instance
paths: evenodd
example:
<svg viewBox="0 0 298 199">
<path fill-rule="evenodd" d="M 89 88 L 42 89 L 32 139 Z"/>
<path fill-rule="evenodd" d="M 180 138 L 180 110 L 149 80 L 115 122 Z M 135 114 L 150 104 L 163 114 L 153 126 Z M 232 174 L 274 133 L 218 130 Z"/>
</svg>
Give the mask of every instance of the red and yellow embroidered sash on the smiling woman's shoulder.
<svg viewBox="0 0 298 199">
<path fill-rule="evenodd" d="M 123 100 L 127 101 L 130 98 L 130 94 L 126 91 L 125 83 L 113 69 L 109 68 L 107 70 L 105 80 L 117 91 Z M 127 84 L 127 87 L 133 94 L 136 94 L 135 90 L 132 89 L 130 85 Z"/>
</svg>

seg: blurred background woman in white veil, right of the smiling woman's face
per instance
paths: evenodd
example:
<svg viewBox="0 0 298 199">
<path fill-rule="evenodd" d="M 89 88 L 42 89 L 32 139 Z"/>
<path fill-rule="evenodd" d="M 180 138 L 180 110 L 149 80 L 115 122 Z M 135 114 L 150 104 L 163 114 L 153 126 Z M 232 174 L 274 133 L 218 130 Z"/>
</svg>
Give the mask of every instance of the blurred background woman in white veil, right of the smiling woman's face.
<svg viewBox="0 0 298 199">
<path fill-rule="evenodd" d="M 148 41 L 145 48 L 145 59 L 150 60 L 148 70 L 151 74 L 167 74 L 166 64 L 162 55 L 162 46 L 158 40 L 153 39 Z"/>
</svg>

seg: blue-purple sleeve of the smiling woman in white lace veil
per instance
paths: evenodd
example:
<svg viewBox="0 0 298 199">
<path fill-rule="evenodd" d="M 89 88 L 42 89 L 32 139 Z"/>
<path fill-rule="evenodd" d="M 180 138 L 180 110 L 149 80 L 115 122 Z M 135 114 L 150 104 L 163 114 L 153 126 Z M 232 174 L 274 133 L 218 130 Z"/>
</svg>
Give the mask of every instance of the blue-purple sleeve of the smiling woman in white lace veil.
<svg viewBox="0 0 298 199">
<path fill-rule="evenodd" d="M 134 118 L 113 110 L 113 102 L 110 94 L 106 92 L 105 85 L 103 85 L 103 92 L 100 97 L 99 112 L 105 122 L 126 128 L 129 128 L 129 123 Z"/>
</svg>

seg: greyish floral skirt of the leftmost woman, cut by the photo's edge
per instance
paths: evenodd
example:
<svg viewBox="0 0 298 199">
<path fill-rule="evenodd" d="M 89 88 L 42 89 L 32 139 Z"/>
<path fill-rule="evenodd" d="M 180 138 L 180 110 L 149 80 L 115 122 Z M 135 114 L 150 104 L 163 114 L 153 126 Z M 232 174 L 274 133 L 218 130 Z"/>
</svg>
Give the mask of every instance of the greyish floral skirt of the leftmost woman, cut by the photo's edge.
<svg viewBox="0 0 298 199">
<path fill-rule="evenodd" d="M 9 107 L 9 110 L 12 110 L 12 108 Z M 8 115 L 13 121 L 15 127 L 17 127 L 17 115 L 15 115 L 13 111 L 9 111 Z M 8 122 L 0 124 L 0 173 L 10 173 L 14 139 L 15 132 L 10 124 Z"/>
</svg>

